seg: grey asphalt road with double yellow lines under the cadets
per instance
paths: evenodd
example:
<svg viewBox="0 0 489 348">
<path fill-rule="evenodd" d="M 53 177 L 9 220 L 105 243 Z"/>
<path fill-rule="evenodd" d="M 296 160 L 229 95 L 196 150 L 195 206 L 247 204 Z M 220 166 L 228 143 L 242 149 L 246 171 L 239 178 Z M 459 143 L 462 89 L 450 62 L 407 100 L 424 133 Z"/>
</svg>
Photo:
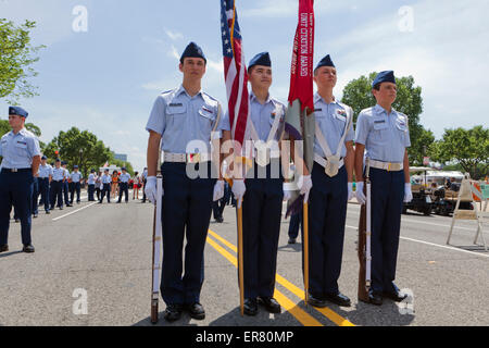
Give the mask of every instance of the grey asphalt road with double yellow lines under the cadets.
<svg viewBox="0 0 489 348">
<path fill-rule="evenodd" d="M 84 195 L 86 196 L 86 194 Z M 21 252 L 20 224 L 11 223 L 10 251 L 0 253 L 0 325 L 151 325 L 152 206 L 140 201 L 88 203 L 42 211 L 34 220 L 34 254 Z M 351 308 L 317 310 L 303 301 L 301 245 L 288 245 L 283 221 L 275 297 L 281 314 L 261 310 L 239 315 L 236 269 L 236 212 L 212 221 L 205 247 L 204 321 L 184 314 L 176 323 L 199 326 L 489 325 L 489 252 L 474 246 L 476 223 L 457 221 L 452 246 L 446 240 L 451 217 L 403 215 L 397 284 L 412 301 L 381 307 L 356 299 L 358 204 L 349 204 L 341 291 Z M 485 224 L 489 241 L 489 228 Z"/>
</svg>

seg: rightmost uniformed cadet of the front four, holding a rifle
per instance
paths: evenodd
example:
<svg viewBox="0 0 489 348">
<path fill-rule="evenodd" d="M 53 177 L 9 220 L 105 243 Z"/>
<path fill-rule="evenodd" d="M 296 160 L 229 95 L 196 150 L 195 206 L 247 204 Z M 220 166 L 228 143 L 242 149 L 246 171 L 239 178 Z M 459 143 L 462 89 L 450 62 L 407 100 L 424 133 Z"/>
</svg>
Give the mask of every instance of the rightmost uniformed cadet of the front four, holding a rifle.
<svg viewBox="0 0 489 348">
<path fill-rule="evenodd" d="M 359 115 L 355 172 L 359 181 L 356 197 L 365 203 L 361 174 L 365 156 L 372 183 L 372 286 L 368 301 L 379 306 L 383 297 L 394 301 L 405 298 L 393 281 L 403 200 L 412 199 L 406 151 L 411 140 L 408 116 L 392 109 L 397 97 L 393 72 L 379 73 L 372 86 L 377 104 Z"/>
</svg>

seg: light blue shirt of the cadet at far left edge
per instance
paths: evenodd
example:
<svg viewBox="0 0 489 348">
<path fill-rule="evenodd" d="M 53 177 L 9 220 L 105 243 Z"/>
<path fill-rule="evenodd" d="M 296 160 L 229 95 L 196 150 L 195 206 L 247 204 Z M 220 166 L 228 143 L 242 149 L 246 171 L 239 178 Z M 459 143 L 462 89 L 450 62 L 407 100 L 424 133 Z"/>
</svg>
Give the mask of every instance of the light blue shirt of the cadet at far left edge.
<svg viewBox="0 0 489 348">
<path fill-rule="evenodd" d="M 0 156 L 3 157 L 4 169 L 29 169 L 33 158 L 40 156 L 39 140 L 26 128 L 22 128 L 17 134 L 11 130 L 0 140 Z"/>
</svg>

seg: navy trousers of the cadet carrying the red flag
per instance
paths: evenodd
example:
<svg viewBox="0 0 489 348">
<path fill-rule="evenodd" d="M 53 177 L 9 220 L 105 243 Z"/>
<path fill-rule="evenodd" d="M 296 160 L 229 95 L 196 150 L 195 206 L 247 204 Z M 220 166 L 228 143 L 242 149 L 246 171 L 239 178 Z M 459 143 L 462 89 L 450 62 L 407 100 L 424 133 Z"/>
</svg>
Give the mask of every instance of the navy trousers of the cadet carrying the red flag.
<svg viewBox="0 0 489 348">
<path fill-rule="evenodd" d="M 348 206 L 348 174 L 334 177 L 314 162 L 309 200 L 309 279 L 314 297 L 338 294 Z M 302 235 L 303 237 L 303 235 Z"/>
</svg>

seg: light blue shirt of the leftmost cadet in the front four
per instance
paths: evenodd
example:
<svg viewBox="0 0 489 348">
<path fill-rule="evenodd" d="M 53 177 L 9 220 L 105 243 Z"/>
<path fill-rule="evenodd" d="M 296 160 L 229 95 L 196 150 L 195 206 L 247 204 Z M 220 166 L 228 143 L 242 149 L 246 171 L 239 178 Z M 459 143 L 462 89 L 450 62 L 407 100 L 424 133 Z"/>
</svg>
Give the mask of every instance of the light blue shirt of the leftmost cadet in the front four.
<svg viewBox="0 0 489 348">
<path fill-rule="evenodd" d="M 220 102 L 200 91 L 190 97 L 185 88 L 163 92 L 156 98 L 146 129 L 162 135 L 162 150 L 171 153 L 211 152 L 211 133 L 217 120 Z M 223 119 L 223 117 L 221 117 Z M 222 138 L 222 124 L 216 128 Z M 200 140 L 206 149 L 187 148 Z M 200 151 L 199 151 L 200 150 Z"/>
</svg>

